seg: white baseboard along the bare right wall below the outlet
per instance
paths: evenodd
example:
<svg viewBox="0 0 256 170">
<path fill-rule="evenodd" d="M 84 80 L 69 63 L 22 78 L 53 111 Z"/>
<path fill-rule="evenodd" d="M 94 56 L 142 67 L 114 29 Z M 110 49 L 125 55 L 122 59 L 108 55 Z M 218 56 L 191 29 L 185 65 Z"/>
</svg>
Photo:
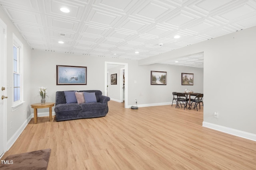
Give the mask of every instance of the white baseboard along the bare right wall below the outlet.
<svg viewBox="0 0 256 170">
<path fill-rule="evenodd" d="M 242 137 L 242 138 L 249 139 L 249 140 L 252 140 L 252 141 L 256 141 L 256 135 L 253 134 L 253 133 L 239 131 L 239 130 L 236 130 L 236 129 L 216 125 L 216 124 L 213 124 L 213 123 L 208 123 L 208 122 L 205 122 L 205 121 L 203 121 L 203 127 L 208 127 L 210 129 L 214 129 L 216 131 L 221 131 L 221 132 L 224 132 L 224 133 L 228 133 L 230 135 L 234 135 L 234 136 Z"/>
</svg>

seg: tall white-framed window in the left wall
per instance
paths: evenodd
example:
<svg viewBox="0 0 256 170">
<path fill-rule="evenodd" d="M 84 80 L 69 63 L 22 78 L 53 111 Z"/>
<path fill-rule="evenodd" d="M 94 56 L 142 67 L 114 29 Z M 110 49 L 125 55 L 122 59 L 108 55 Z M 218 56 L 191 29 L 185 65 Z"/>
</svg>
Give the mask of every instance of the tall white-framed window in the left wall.
<svg viewBox="0 0 256 170">
<path fill-rule="evenodd" d="M 17 109 L 23 101 L 23 75 L 22 75 L 22 47 L 23 44 L 13 34 L 13 104 L 12 108 Z"/>
</svg>

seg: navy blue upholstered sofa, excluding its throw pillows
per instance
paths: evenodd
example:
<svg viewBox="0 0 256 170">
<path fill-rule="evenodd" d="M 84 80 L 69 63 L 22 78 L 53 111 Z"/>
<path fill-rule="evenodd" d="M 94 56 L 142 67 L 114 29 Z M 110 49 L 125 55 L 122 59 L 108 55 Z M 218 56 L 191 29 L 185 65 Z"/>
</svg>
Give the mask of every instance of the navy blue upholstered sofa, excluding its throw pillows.
<svg viewBox="0 0 256 170">
<path fill-rule="evenodd" d="M 54 108 L 56 121 L 106 116 L 108 113 L 108 101 L 110 101 L 109 97 L 102 96 L 100 90 L 82 90 L 77 92 L 95 92 L 97 102 L 66 104 L 64 91 L 58 91 L 56 92 Z"/>
</svg>

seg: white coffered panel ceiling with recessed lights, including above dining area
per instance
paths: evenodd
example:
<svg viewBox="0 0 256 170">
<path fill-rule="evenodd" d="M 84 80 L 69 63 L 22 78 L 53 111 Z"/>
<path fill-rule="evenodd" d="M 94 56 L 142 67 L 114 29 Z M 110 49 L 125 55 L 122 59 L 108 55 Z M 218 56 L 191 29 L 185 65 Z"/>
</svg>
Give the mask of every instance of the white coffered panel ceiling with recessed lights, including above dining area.
<svg viewBox="0 0 256 170">
<path fill-rule="evenodd" d="M 256 0 L 0 0 L 0 4 L 32 49 L 128 60 L 256 25 Z M 70 13 L 61 12 L 62 7 Z M 182 62 L 202 68 L 203 54 L 168 63 Z"/>
</svg>

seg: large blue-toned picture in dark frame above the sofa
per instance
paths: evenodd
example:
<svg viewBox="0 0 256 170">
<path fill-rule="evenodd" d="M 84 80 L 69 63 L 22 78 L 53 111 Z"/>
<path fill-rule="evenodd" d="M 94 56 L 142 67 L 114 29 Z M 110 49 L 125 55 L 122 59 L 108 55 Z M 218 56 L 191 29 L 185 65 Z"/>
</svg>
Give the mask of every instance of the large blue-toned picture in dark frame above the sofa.
<svg viewBox="0 0 256 170">
<path fill-rule="evenodd" d="M 87 85 L 87 67 L 56 65 L 56 85 Z"/>
</svg>

